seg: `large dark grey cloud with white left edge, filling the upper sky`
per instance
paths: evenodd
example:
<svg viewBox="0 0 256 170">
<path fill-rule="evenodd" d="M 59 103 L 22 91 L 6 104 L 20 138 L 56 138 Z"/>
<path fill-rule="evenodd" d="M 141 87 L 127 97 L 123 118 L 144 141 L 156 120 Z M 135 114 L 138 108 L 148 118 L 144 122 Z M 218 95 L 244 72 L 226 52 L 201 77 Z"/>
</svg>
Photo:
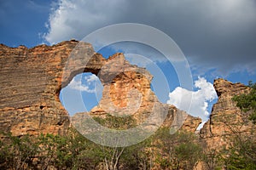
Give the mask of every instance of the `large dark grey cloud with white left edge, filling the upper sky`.
<svg viewBox="0 0 256 170">
<path fill-rule="evenodd" d="M 122 22 L 154 26 L 177 42 L 199 70 L 255 72 L 256 3 L 253 0 L 62 0 L 49 17 L 48 42 Z"/>
</svg>

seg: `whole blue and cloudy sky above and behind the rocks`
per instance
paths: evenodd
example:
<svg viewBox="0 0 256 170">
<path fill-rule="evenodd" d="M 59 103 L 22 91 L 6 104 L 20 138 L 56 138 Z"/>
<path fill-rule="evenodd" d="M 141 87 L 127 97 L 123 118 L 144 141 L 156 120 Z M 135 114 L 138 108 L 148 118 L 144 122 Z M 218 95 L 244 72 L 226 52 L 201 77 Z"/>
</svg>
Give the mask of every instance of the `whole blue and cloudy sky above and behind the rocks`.
<svg viewBox="0 0 256 170">
<path fill-rule="evenodd" d="M 204 120 L 216 101 L 212 93 L 215 78 L 246 84 L 249 80 L 256 82 L 256 2 L 253 0 L 9 0 L 0 2 L 0 19 L 0 42 L 10 47 L 26 45 L 29 48 L 72 38 L 81 40 L 90 32 L 111 24 L 130 22 L 153 26 L 172 37 L 181 48 L 194 81 L 193 90 L 178 88 L 180 84 L 172 63 L 162 61 L 160 55 L 143 54 L 145 50 L 142 50 L 140 54 L 151 59 L 168 82 L 167 90 L 162 87 L 160 72 L 153 65 L 143 65 L 154 75 L 155 93 L 162 102 L 172 104 L 183 94 L 193 94 L 194 113 L 191 114 Z M 135 53 L 138 52 L 133 50 L 137 49 L 132 48 L 135 46 L 143 49 L 135 44 L 127 45 L 128 51 L 117 46 L 99 52 L 104 57 L 119 51 Z M 127 59 L 142 64 L 137 58 Z M 92 78 L 89 82 L 88 77 Z M 94 78 L 90 74 L 82 75 L 76 79 L 82 83 L 73 82 L 73 87 L 66 89 L 70 95 L 82 94 L 81 99 L 89 110 L 96 105 L 96 95 L 90 90 L 95 82 L 100 87 Z M 78 87 L 83 89 L 79 93 Z M 100 96 L 97 94 L 98 99 Z M 79 104 L 76 98 L 73 95 L 67 99 L 71 107 L 68 110 L 84 111 L 83 101 Z"/>
</svg>

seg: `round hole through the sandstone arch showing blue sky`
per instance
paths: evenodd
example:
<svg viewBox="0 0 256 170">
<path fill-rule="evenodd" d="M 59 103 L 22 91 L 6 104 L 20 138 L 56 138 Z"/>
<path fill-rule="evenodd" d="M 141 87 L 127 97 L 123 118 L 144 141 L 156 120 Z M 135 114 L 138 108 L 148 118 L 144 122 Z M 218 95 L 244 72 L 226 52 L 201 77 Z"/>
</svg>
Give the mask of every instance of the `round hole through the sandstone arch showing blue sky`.
<svg viewBox="0 0 256 170">
<path fill-rule="evenodd" d="M 70 116 L 90 111 L 102 99 L 102 82 L 96 75 L 85 72 L 73 77 L 67 87 L 61 89 L 61 104 Z"/>
</svg>

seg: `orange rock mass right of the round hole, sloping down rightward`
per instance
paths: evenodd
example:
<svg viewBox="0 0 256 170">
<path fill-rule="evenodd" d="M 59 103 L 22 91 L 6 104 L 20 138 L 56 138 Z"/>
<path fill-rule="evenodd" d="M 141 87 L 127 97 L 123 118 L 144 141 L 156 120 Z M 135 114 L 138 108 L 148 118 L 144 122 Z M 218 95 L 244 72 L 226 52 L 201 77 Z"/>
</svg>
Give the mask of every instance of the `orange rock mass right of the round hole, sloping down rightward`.
<svg viewBox="0 0 256 170">
<path fill-rule="evenodd" d="M 102 99 L 89 113 L 78 113 L 72 117 L 80 133 L 88 133 L 81 126 L 86 114 L 106 118 L 131 116 L 137 125 L 152 127 L 172 127 L 173 133 L 183 128 L 195 132 L 200 118 L 189 116 L 173 105 L 161 104 L 150 88 L 152 75 L 144 68 L 131 65 L 124 54 L 114 54 L 106 60 L 98 75 L 103 84 Z M 165 119 L 166 118 L 166 119 Z M 82 128 L 83 127 L 83 128 Z"/>
</svg>

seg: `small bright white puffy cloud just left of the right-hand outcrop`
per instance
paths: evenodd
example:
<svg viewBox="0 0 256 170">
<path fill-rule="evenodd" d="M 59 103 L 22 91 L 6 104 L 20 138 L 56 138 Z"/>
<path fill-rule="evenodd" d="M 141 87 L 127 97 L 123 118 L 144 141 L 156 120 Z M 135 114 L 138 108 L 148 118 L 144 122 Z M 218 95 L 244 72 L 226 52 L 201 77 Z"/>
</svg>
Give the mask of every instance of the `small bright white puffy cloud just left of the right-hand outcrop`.
<svg viewBox="0 0 256 170">
<path fill-rule="evenodd" d="M 189 91 L 184 88 L 177 87 L 169 94 L 168 104 L 177 106 L 177 108 L 187 111 L 192 116 L 200 116 L 202 121 L 207 121 L 210 113 L 207 111 L 208 102 L 217 99 L 217 94 L 211 82 L 203 77 L 198 77 L 195 81 L 197 91 Z M 192 96 L 192 98 L 189 98 Z M 188 109 L 190 105 L 190 109 Z"/>
</svg>

